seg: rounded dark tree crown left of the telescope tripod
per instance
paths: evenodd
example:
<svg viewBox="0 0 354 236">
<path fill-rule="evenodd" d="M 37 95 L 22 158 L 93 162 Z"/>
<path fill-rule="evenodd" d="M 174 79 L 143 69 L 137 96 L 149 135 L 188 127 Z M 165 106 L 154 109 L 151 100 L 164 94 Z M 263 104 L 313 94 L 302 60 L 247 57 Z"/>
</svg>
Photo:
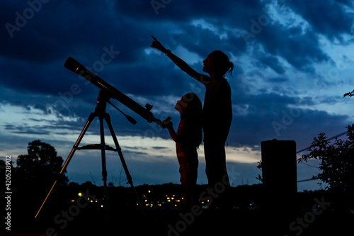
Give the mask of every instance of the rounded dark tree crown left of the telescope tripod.
<svg viewBox="0 0 354 236">
<path fill-rule="evenodd" d="M 58 185 L 67 185 L 67 176 L 59 175 L 63 159 L 57 157 L 55 148 L 51 145 L 35 140 L 28 143 L 28 154 L 17 158 L 16 175 L 21 182 L 28 186 L 40 186 L 45 189 L 57 179 Z M 37 189 L 37 188 L 36 188 Z"/>
</svg>

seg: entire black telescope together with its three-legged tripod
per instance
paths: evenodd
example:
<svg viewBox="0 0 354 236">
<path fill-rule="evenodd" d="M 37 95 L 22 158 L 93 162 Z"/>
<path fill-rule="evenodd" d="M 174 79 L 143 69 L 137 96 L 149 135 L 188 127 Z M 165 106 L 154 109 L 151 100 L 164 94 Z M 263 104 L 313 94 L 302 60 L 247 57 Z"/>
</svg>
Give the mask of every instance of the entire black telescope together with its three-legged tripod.
<svg viewBox="0 0 354 236">
<path fill-rule="evenodd" d="M 132 176 L 129 174 L 129 170 L 127 169 L 127 164 L 125 163 L 125 159 L 122 155 L 122 150 L 119 146 L 118 139 L 115 135 L 115 132 L 113 130 L 113 126 L 110 123 L 110 116 L 108 113 L 105 112 L 106 108 L 106 103 L 110 103 L 112 106 L 113 103 L 111 103 L 109 100 L 110 99 L 116 99 L 123 103 L 125 106 L 130 108 L 132 111 L 135 111 L 139 116 L 147 120 L 149 123 L 156 123 L 160 125 L 161 128 L 165 128 L 164 123 L 161 122 L 161 120 L 156 119 L 154 115 L 152 115 L 152 112 L 150 111 L 152 109 L 152 105 L 147 104 L 145 107 L 140 106 L 138 103 L 130 99 L 130 97 L 126 96 L 123 94 L 121 91 L 118 89 L 115 89 L 112 85 L 108 84 L 105 82 L 103 79 L 98 77 L 96 74 L 93 74 L 89 69 L 86 69 L 82 64 L 74 60 L 74 58 L 69 57 L 67 61 L 64 63 L 64 67 L 69 69 L 70 71 L 79 74 L 81 77 L 84 77 L 87 79 L 89 82 L 92 84 L 98 86 L 99 89 L 101 89 L 100 94 L 97 99 L 97 106 L 95 108 L 95 112 L 91 113 L 86 125 L 84 126 L 83 130 L 81 131 L 78 139 L 75 142 L 75 145 L 72 147 L 72 151 L 69 153 L 69 156 L 67 157 L 67 160 L 64 162 L 62 169 L 60 170 L 57 180 L 59 179 L 59 176 L 63 175 L 65 170 L 67 169 L 67 166 L 72 159 L 74 153 L 76 150 L 92 150 L 92 149 L 101 149 L 101 159 L 102 159 L 102 176 L 103 176 L 103 186 L 104 186 L 104 191 L 105 191 L 105 218 L 106 218 L 106 225 L 108 224 L 108 189 L 107 189 L 107 169 L 105 167 L 105 150 L 112 150 L 115 152 L 118 152 L 118 155 L 120 157 L 120 161 L 122 162 L 122 167 L 125 170 L 125 174 L 127 175 L 127 183 L 129 183 L 132 188 L 135 190 L 134 184 L 132 182 Z M 114 106 L 117 108 L 116 106 Z M 118 109 L 118 108 L 117 108 Z M 120 111 L 120 109 L 118 109 Z M 122 113 L 122 111 L 120 111 Z M 125 113 L 122 113 L 133 125 L 137 123 L 133 118 L 130 116 L 125 115 Z M 101 135 L 101 144 L 96 145 L 86 145 L 84 147 L 79 147 L 79 144 L 84 137 L 86 130 L 89 128 L 89 125 L 92 123 L 93 119 L 95 117 L 98 117 L 100 119 L 100 135 Z M 171 118 L 169 118 L 171 119 Z M 113 141 L 115 143 L 115 149 L 113 147 L 109 147 L 108 145 L 105 145 L 105 134 L 104 134 L 104 127 L 103 127 L 103 120 L 108 125 L 108 128 L 110 130 L 110 134 L 112 135 Z M 40 209 L 38 210 L 38 213 L 35 215 L 35 218 L 37 218 L 38 214 L 40 213 L 40 210 L 44 206 L 45 202 L 47 201 L 47 198 L 50 196 L 50 193 L 55 187 L 55 184 L 57 184 L 57 180 L 54 182 L 52 185 L 52 188 L 50 189 L 49 193 L 45 197 L 45 200 L 42 203 L 42 206 L 40 206 Z M 137 196 L 137 200 L 139 201 L 138 205 L 142 207 L 142 204 L 140 203 L 139 196 L 137 195 L 137 191 L 135 190 L 135 195 Z M 143 210 L 143 209 L 142 209 Z M 143 210 L 144 213 L 144 210 Z"/>
</svg>

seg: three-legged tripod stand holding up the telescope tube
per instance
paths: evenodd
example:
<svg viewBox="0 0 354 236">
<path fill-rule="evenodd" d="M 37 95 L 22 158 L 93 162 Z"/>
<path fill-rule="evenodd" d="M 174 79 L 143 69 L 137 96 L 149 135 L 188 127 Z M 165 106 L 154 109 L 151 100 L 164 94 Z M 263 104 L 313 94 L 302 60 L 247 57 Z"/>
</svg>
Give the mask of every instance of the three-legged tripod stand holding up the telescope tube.
<svg viewBox="0 0 354 236">
<path fill-rule="evenodd" d="M 102 177 L 103 177 L 103 188 L 104 188 L 104 198 L 105 198 L 105 223 L 108 225 L 108 189 L 107 189 L 107 169 L 105 165 L 105 150 L 113 150 L 117 151 L 120 157 L 120 161 L 122 162 L 122 167 L 125 171 L 125 174 L 127 176 L 127 182 L 132 186 L 132 189 L 135 191 L 135 195 L 137 196 L 137 201 L 139 203 L 139 206 L 142 208 L 142 204 L 140 203 L 139 196 L 137 195 L 137 191 L 134 187 L 134 184 L 132 183 L 132 176 L 129 174 L 129 170 L 127 169 L 127 164 L 125 163 L 125 159 L 122 154 L 122 150 L 120 149 L 117 137 L 115 136 L 115 132 L 113 130 L 112 124 L 110 123 L 110 116 L 108 113 L 105 112 L 106 108 L 106 103 L 110 103 L 109 101 L 110 96 L 105 93 L 103 90 L 100 91 L 100 94 L 98 95 L 97 99 L 97 106 L 95 108 L 95 111 L 90 114 L 86 125 L 84 126 L 84 129 L 81 131 L 81 134 L 79 135 L 78 139 L 75 142 L 74 147 L 72 147 L 72 151 L 69 153 L 69 156 L 67 157 L 67 160 L 64 162 L 61 171 L 59 172 L 59 176 L 64 174 L 65 169 L 67 169 L 67 166 L 72 159 L 74 153 L 76 150 L 93 150 L 93 149 L 101 149 L 101 160 L 102 160 Z M 111 103 L 110 103 L 111 104 Z M 113 105 L 113 104 L 112 104 Z M 119 110 L 119 109 L 118 109 Z M 123 113 L 124 114 L 124 113 Z M 125 115 L 125 114 L 124 114 Z M 84 147 L 79 147 L 79 144 L 84 137 L 86 130 L 89 128 L 90 124 L 92 123 L 93 119 L 98 117 L 100 120 L 100 135 L 101 135 L 101 144 L 100 145 L 86 145 Z M 130 118 L 130 117 L 129 117 Z M 132 119 L 132 118 L 131 118 Z M 112 135 L 113 141 L 115 143 L 115 149 L 112 147 L 109 147 L 108 145 L 105 145 L 105 135 L 104 135 L 104 127 L 103 127 L 103 120 L 108 125 L 108 128 L 110 130 L 110 134 Z M 134 120 L 134 119 L 133 119 Z M 59 179 L 59 176 L 57 179 Z M 47 201 L 47 198 L 50 196 L 50 193 L 54 189 L 55 184 L 57 184 L 57 180 L 53 184 L 52 188 L 50 189 L 49 193 L 47 194 L 47 197 L 45 198 L 45 201 Z M 38 213 L 35 215 L 35 218 L 37 218 L 38 214 L 40 213 L 40 210 L 45 204 L 45 201 L 43 201 L 42 206 L 40 206 L 40 209 L 38 210 Z M 142 213 L 144 215 L 144 210 L 142 208 Z M 145 216 L 145 215 L 144 215 Z"/>
</svg>

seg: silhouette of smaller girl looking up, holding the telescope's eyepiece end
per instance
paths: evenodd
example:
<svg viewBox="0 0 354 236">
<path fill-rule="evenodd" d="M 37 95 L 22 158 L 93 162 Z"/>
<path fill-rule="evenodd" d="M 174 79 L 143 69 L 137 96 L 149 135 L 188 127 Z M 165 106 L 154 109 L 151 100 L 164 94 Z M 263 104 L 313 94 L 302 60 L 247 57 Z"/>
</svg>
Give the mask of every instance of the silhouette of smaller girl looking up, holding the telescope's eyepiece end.
<svg viewBox="0 0 354 236">
<path fill-rule="evenodd" d="M 189 211 L 197 203 L 195 187 L 198 177 L 198 152 L 202 142 L 202 103 L 198 96 L 185 94 L 177 101 L 176 110 L 181 113 L 177 132 L 171 121 L 164 120 L 171 138 L 176 142 L 177 159 L 180 165 L 181 186 L 183 189 L 183 212 Z"/>
</svg>

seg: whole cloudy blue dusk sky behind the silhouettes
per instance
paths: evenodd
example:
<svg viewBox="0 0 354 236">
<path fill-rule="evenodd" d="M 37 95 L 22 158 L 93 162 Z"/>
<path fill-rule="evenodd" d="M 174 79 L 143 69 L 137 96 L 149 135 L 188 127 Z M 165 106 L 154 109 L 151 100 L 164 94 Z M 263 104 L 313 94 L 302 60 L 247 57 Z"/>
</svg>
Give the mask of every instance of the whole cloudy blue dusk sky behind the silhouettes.
<svg viewBox="0 0 354 236">
<path fill-rule="evenodd" d="M 200 73 L 213 50 L 235 64 L 227 75 L 227 168 L 232 186 L 258 184 L 262 141 L 295 140 L 302 150 L 319 133 L 332 137 L 354 123 L 354 99 L 343 98 L 354 89 L 353 13 L 350 0 L 1 1 L 0 157 L 16 161 L 28 142 L 41 140 L 67 159 L 99 92 L 64 68 L 68 57 L 140 105 L 151 104 L 156 118 L 171 116 L 176 129 L 176 101 L 189 91 L 203 101 L 205 88 L 150 47 L 154 35 Z M 108 104 L 135 185 L 178 184 L 167 130 L 112 102 L 137 120 L 132 125 Z M 105 135 L 114 146 L 108 129 Z M 96 118 L 81 145 L 99 142 Z M 202 146 L 199 161 L 198 184 L 207 184 Z M 310 179 L 319 172 L 314 167 L 297 164 L 297 179 Z M 122 184 L 117 153 L 107 151 L 107 168 L 108 181 Z M 67 176 L 101 185 L 101 152 L 76 151 Z M 298 189 L 319 186 L 307 181 Z"/>
</svg>

